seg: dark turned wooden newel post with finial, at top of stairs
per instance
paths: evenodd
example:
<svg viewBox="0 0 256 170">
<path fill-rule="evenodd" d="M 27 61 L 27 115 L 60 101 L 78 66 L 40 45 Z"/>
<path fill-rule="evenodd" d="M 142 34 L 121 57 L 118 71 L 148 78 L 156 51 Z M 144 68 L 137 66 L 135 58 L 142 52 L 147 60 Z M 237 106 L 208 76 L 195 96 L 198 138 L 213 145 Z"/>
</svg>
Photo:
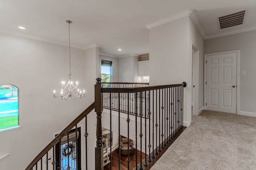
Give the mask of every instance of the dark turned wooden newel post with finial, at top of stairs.
<svg viewBox="0 0 256 170">
<path fill-rule="evenodd" d="M 103 147 L 102 147 L 102 124 L 101 114 L 103 111 L 103 94 L 101 93 L 101 78 L 96 78 L 95 89 L 95 112 L 97 114 L 96 147 L 95 147 L 95 169 L 103 170 Z"/>
</svg>

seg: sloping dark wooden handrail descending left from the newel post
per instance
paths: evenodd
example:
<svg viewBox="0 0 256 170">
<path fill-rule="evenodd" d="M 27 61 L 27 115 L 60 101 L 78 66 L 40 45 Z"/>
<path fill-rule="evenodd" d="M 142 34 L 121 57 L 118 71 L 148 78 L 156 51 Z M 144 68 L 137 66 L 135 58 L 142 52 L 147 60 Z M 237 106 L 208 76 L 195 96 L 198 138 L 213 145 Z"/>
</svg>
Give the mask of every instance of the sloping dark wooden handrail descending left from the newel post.
<svg viewBox="0 0 256 170">
<path fill-rule="evenodd" d="M 25 170 L 30 170 L 33 166 L 50 150 L 60 139 L 62 139 L 76 124 L 94 109 L 94 102 L 87 107 L 76 119 L 74 119 L 63 131 L 61 131 L 28 165 Z"/>
</svg>

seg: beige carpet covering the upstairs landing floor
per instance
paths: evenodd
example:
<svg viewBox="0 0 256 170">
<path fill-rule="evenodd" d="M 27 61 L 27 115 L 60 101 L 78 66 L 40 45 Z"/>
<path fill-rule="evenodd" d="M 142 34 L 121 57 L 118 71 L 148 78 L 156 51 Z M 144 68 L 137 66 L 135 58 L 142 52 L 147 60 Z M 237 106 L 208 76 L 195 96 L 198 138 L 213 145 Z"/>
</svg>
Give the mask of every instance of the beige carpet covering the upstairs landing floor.
<svg viewBox="0 0 256 170">
<path fill-rule="evenodd" d="M 256 170 L 256 117 L 204 110 L 151 170 Z"/>
</svg>

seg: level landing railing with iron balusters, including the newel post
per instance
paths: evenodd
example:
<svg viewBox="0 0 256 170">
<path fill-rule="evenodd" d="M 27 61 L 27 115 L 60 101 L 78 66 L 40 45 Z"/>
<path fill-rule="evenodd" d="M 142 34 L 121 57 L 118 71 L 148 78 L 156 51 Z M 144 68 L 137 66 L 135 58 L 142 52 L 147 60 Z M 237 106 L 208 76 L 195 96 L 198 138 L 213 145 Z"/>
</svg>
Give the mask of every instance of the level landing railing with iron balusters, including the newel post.
<svg viewBox="0 0 256 170">
<path fill-rule="evenodd" d="M 104 113 L 103 116 L 104 128 L 110 131 L 110 147 L 109 149 L 104 149 L 103 153 L 102 104 L 98 106 L 98 109 L 95 107 L 98 120 L 95 169 L 103 170 L 104 166 L 106 169 L 115 168 L 119 170 L 130 168 L 136 170 L 149 169 L 184 130 L 183 88 L 186 87 L 186 82 L 162 86 L 102 88 L 100 80 L 100 78 L 97 79 L 98 101 L 103 102 L 103 94 L 109 96 L 108 109 L 110 109 L 110 112 L 109 114 Z M 114 101 L 113 94 L 116 96 Z M 135 114 L 133 116 L 130 116 L 130 114 L 122 115 L 124 107 L 121 106 L 121 101 L 124 100 L 123 96 L 131 96 L 131 94 L 134 98 L 127 97 L 124 107 L 129 113 L 130 104 L 133 104 Z M 113 105 L 116 105 L 116 107 L 114 108 Z M 107 121 L 109 123 L 106 123 Z M 118 134 L 117 152 L 119 158 L 117 159 L 112 156 L 112 145 L 115 140 L 112 132 Z M 125 148 L 123 148 L 124 141 L 121 141 L 121 137 L 127 138 L 127 141 L 132 140 L 133 145 L 125 145 Z M 135 152 L 131 151 L 131 154 L 134 153 L 135 156 L 131 156 L 131 148 Z M 124 152 L 122 152 L 122 149 L 124 149 Z M 126 158 L 121 158 L 123 153 L 127 155 Z M 106 156 L 109 163 L 105 165 L 103 158 Z M 133 160 L 131 159 L 132 157 L 134 157 Z M 134 162 L 131 164 L 131 161 Z M 134 163 L 136 166 L 132 167 Z"/>
</svg>

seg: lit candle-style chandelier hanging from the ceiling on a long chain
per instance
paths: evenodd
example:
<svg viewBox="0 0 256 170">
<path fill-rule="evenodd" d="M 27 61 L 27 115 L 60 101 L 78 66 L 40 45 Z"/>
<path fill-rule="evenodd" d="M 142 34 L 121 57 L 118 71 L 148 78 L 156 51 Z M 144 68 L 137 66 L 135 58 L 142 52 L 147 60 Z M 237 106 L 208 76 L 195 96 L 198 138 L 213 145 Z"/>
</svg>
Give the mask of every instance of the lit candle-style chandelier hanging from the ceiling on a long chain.
<svg viewBox="0 0 256 170">
<path fill-rule="evenodd" d="M 72 81 L 72 74 L 71 74 L 71 62 L 70 62 L 70 23 L 72 23 L 72 21 L 66 20 L 66 22 L 68 23 L 68 38 L 69 38 L 69 74 L 68 74 L 68 83 L 66 84 L 64 81 L 62 81 L 62 89 L 60 91 L 60 95 L 56 95 L 56 91 L 53 91 L 53 96 L 54 98 L 60 98 L 60 99 L 64 99 L 64 100 L 68 100 L 68 99 L 72 99 L 75 100 L 77 98 L 82 98 L 84 97 L 85 94 L 85 90 L 83 90 L 83 92 L 81 90 L 79 90 L 78 88 L 78 82 L 76 81 L 76 84 L 73 84 Z"/>
</svg>

